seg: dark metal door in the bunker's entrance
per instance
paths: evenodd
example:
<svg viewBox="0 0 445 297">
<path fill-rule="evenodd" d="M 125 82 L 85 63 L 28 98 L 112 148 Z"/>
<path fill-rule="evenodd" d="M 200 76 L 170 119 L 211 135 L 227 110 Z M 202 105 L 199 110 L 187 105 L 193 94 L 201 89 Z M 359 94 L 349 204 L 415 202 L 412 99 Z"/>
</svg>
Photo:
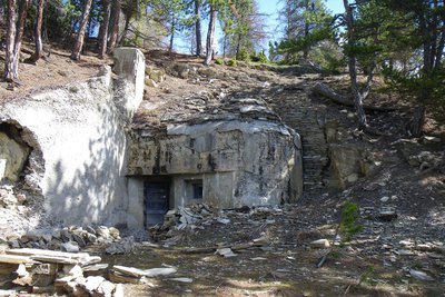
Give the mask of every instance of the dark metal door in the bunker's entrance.
<svg viewBox="0 0 445 297">
<path fill-rule="evenodd" d="M 161 224 L 168 211 L 168 182 L 145 182 L 146 226 Z"/>
</svg>

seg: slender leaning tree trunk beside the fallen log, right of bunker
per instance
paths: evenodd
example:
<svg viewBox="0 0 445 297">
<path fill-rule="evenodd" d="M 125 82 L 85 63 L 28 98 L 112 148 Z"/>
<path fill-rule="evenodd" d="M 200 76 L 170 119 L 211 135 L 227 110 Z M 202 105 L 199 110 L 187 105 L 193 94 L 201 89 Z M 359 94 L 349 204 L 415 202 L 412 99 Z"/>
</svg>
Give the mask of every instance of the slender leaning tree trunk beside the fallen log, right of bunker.
<svg viewBox="0 0 445 297">
<path fill-rule="evenodd" d="M 348 34 L 348 47 L 354 48 L 355 46 L 355 27 L 354 27 L 354 14 L 353 8 L 349 6 L 347 0 L 343 0 L 343 4 L 346 11 L 346 24 Z M 357 82 L 357 60 L 354 53 L 348 55 L 348 70 L 350 77 L 350 87 L 354 97 L 354 106 L 357 112 L 358 129 L 363 130 L 367 127 L 365 109 L 363 108 L 363 95 L 358 88 Z"/>
</svg>

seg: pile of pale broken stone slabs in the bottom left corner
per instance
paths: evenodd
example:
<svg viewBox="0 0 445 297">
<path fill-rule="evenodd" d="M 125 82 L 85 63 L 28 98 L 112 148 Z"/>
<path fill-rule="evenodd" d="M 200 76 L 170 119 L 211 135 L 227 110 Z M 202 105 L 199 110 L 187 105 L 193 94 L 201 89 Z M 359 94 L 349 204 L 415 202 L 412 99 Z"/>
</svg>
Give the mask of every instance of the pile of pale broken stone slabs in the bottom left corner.
<svg viewBox="0 0 445 297">
<path fill-rule="evenodd" d="M 118 288 L 118 285 L 103 276 L 86 274 L 108 268 L 106 264 L 98 264 L 101 261 L 98 256 L 30 248 L 10 249 L 6 253 L 0 255 L 1 287 L 12 296 L 21 293 L 123 296 L 122 288 Z M 0 291 L 0 296 L 3 293 Z"/>
</svg>

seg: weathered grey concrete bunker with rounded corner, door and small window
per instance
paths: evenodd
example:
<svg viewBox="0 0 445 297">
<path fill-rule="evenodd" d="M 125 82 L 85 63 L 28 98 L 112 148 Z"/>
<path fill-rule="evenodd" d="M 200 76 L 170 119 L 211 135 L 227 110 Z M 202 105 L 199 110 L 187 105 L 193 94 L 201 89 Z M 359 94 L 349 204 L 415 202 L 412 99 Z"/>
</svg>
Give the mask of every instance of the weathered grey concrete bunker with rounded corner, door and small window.
<svg viewBox="0 0 445 297">
<path fill-rule="evenodd" d="M 128 226 L 161 222 L 174 208 L 295 202 L 303 190 L 298 135 L 279 122 L 170 125 L 130 137 Z"/>
</svg>

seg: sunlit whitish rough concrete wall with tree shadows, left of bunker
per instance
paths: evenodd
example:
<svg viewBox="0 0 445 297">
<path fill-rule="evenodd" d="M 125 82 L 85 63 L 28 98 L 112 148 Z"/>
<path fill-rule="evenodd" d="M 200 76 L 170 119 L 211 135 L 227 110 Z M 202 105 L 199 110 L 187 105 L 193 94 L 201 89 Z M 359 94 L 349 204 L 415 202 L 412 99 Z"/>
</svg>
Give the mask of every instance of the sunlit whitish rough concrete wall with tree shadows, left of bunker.
<svg viewBox="0 0 445 297">
<path fill-rule="evenodd" d="M 139 65 L 118 69 L 116 81 L 103 68 L 99 77 L 1 107 L 0 122 L 16 120 L 37 137 L 44 161 L 39 184 L 44 208 L 65 224 L 127 220 L 125 125 L 142 100 L 135 85 L 144 81 L 145 63 L 135 49 L 117 50 L 117 60 L 137 57 Z"/>
</svg>

